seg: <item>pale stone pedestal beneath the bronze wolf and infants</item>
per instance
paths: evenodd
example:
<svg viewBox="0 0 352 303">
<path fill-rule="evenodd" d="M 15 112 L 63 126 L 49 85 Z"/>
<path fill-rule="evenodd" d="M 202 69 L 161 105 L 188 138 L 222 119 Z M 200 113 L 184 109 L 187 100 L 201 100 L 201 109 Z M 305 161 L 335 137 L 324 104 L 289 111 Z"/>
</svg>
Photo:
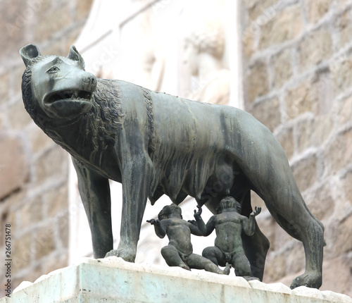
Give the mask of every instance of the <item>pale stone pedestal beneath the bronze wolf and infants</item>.
<svg viewBox="0 0 352 303">
<path fill-rule="evenodd" d="M 11 298 L 0 303 L 47 302 L 255 302 L 315 303 L 352 302 L 352 298 L 330 291 L 298 287 L 290 290 L 281 284 L 222 276 L 205 271 L 131 264 L 115 256 L 107 259 L 83 259 L 42 276 L 34 283 L 23 282 Z"/>
</svg>

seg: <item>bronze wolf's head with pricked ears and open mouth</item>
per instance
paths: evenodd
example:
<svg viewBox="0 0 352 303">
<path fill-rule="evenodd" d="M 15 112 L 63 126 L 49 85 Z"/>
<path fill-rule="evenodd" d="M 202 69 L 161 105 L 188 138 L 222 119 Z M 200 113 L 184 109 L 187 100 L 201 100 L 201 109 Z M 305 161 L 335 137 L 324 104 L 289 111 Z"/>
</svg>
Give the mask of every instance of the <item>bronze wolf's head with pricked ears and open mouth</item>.
<svg viewBox="0 0 352 303">
<path fill-rule="evenodd" d="M 20 55 L 26 66 L 23 101 L 33 119 L 34 109 L 48 118 L 70 120 L 92 108 L 96 78 L 84 70 L 83 58 L 74 46 L 66 58 L 42 56 L 34 44 L 20 49 Z"/>
</svg>

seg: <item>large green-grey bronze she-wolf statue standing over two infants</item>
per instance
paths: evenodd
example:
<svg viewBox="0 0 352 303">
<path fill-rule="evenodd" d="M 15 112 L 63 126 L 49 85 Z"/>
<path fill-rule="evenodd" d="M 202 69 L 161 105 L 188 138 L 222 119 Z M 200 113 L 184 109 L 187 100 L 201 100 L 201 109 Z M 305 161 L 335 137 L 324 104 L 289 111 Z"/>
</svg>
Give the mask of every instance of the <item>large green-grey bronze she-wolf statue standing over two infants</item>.
<svg viewBox="0 0 352 303">
<path fill-rule="evenodd" d="M 277 223 L 301 240 L 306 272 L 291 287 L 322 284 L 324 228 L 308 210 L 287 157 L 272 133 L 245 111 L 203 104 L 84 70 L 75 47 L 68 56 L 42 56 L 29 44 L 23 101 L 34 122 L 73 159 L 92 232 L 94 256 L 134 261 L 147 198 L 187 195 L 215 214 L 223 197 L 251 214 L 250 192 Z M 122 183 L 120 244 L 113 250 L 108 180 Z M 253 276 L 263 278 L 268 239 L 243 235 Z"/>
</svg>

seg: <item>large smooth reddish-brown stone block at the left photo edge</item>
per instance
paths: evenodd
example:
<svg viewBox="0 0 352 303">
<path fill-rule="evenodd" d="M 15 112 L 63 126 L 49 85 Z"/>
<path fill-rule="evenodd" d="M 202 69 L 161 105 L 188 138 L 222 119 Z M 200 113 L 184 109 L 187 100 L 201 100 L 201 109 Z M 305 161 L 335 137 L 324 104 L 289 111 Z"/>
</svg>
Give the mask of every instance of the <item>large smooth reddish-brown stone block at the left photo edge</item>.
<svg viewBox="0 0 352 303">
<path fill-rule="evenodd" d="M 18 190 L 28 179 L 29 167 L 23 142 L 18 137 L 0 135 L 0 199 Z"/>
</svg>

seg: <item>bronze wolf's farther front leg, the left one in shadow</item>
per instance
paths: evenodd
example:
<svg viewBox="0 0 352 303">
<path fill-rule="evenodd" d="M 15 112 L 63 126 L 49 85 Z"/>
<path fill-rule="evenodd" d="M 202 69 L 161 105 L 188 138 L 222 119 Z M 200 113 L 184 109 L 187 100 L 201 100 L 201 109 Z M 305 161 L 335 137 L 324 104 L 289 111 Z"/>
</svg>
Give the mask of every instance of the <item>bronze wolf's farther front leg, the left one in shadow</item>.
<svg viewBox="0 0 352 303">
<path fill-rule="evenodd" d="M 78 189 L 92 233 L 94 258 L 103 258 L 113 249 L 111 196 L 108 179 L 73 158 Z"/>
</svg>

